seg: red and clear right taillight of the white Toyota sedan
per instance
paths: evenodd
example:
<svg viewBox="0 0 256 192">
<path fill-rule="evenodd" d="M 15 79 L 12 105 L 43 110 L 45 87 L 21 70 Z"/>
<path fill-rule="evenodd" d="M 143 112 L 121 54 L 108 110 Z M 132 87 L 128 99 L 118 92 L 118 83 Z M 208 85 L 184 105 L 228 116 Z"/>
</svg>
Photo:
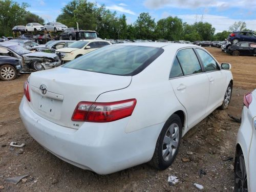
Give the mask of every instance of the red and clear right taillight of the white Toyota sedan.
<svg viewBox="0 0 256 192">
<path fill-rule="evenodd" d="M 116 102 L 79 102 L 72 116 L 72 121 L 111 122 L 131 116 L 136 99 Z"/>
</svg>

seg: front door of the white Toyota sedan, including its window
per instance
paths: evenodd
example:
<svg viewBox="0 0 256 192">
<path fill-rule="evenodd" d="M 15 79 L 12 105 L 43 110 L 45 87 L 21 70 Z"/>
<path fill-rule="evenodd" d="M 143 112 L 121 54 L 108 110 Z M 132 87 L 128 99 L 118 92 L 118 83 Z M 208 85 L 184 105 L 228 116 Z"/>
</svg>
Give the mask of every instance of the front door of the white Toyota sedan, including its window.
<svg viewBox="0 0 256 192">
<path fill-rule="evenodd" d="M 206 108 L 206 113 L 216 109 L 223 102 L 226 90 L 226 75 L 221 71 L 217 61 L 211 57 L 206 51 L 196 49 L 198 57 L 202 62 L 202 66 L 209 81 L 210 94 Z"/>
</svg>

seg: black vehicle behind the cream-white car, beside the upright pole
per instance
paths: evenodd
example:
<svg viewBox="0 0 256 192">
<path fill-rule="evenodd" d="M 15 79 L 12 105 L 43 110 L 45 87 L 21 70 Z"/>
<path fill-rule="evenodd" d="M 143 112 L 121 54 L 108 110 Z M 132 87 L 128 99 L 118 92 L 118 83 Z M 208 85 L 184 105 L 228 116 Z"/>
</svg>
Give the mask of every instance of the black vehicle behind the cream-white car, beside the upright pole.
<svg viewBox="0 0 256 192">
<path fill-rule="evenodd" d="M 91 30 L 77 30 L 77 28 L 68 28 L 60 34 L 59 40 L 80 40 L 80 39 L 96 39 L 97 32 Z"/>
</svg>

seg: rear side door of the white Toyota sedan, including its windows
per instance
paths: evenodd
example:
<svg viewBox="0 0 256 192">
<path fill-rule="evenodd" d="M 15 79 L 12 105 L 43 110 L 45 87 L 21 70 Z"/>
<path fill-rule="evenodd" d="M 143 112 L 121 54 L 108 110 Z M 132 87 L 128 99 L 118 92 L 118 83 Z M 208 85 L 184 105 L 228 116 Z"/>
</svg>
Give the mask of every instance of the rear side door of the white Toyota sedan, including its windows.
<svg viewBox="0 0 256 192">
<path fill-rule="evenodd" d="M 187 111 L 189 129 L 205 116 L 209 98 L 209 80 L 192 48 L 178 51 L 170 71 L 175 95 Z"/>
</svg>

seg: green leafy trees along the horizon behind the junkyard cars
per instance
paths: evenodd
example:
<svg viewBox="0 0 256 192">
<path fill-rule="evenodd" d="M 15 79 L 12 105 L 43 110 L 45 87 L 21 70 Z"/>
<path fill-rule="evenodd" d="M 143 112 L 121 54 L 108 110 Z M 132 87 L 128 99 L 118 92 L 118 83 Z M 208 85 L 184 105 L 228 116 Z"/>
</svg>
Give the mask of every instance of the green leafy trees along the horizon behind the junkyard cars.
<svg viewBox="0 0 256 192">
<path fill-rule="evenodd" d="M 26 3 L 18 4 L 12 0 L 0 1 L 0 35 L 11 35 L 15 25 L 27 23 L 44 24 L 44 19 L 29 11 Z M 205 22 L 189 25 L 181 18 L 168 16 L 156 22 L 149 13 L 140 13 L 133 24 L 126 24 L 124 14 L 117 16 L 116 12 L 106 9 L 104 5 L 87 0 L 72 0 L 61 9 L 57 22 L 85 30 L 95 30 L 99 37 L 107 39 L 166 39 L 166 40 L 224 40 L 230 31 L 245 30 L 244 22 L 236 22 L 228 31 L 215 34 L 215 28 Z"/>
</svg>

